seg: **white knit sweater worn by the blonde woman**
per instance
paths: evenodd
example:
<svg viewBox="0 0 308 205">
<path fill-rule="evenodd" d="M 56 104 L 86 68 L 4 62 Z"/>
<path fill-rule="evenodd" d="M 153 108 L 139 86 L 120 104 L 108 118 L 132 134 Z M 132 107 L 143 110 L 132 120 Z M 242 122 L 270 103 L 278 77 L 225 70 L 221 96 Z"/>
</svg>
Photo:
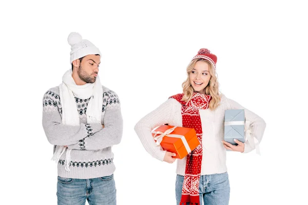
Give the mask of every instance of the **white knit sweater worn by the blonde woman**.
<svg viewBox="0 0 308 205">
<path fill-rule="evenodd" d="M 221 94 L 220 105 L 215 110 L 199 110 L 202 124 L 203 157 L 201 175 L 224 173 L 226 167 L 226 149 L 222 144 L 224 138 L 224 111 L 230 109 L 245 109 L 235 101 Z M 260 142 L 265 129 L 264 120 L 255 113 L 245 109 L 245 119 L 250 121 L 252 134 Z M 144 116 L 134 127 L 144 148 L 153 157 L 163 160 L 165 151 L 156 146 L 151 130 L 160 125 L 182 127 L 181 104 L 173 98 L 169 98 L 156 110 Z M 245 142 L 244 153 L 252 151 Z M 177 160 L 177 174 L 184 175 L 186 157 Z"/>
</svg>

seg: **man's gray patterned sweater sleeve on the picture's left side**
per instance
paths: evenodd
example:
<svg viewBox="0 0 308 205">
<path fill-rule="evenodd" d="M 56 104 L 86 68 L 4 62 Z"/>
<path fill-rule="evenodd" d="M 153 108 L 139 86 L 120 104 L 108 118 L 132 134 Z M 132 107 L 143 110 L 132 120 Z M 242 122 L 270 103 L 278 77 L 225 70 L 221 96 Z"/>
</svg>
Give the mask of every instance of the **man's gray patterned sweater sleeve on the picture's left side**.
<svg viewBox="0 0 308 205">
<path fill-rule="evenodd" d="M 46 92 L 43 98 L 42 124 L 47 139 L 52 145 L 71 145 L 90 133 L 95 133 L 102 129 L 102 125 L 96 124 L 64 125 L 62 124 L 61 112 L 59 95 L 52 91 Z"/>
</svg>

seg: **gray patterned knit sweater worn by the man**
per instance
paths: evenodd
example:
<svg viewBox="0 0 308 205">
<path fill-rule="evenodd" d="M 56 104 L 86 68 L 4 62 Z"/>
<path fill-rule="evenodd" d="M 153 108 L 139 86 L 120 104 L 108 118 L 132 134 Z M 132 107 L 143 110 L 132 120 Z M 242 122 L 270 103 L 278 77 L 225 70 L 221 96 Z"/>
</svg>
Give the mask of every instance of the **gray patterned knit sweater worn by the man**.
<svg viewBox="0 0 308 205">
<path fill-rule="evenodd" d="M 111 175 L 115 166 L 111 147 L 120 143 L 123 119 L 120 100 L 115 92 L 103 86 L 102 125 L 87 124 L 89 99 L 75 97 L 80 126 L 62 124 L 59 87 L 49 89 L 43 98 L 43 128 L 48 141 L 71 148 L 70 171 L 65 171 L 65 153 L 57 165 L 58 175 L 66 178 L 97 178 Z"/>
</svg>

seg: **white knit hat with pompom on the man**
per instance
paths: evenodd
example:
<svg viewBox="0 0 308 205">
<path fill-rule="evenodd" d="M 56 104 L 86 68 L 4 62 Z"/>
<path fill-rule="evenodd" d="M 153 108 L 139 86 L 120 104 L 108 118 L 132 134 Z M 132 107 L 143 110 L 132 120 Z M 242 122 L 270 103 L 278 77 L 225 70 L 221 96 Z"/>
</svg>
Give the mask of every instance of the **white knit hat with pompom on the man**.
<svg viewBox="0 0 308 205">
<path fill-rule="evenodd" d="M 70 52 L 70 64 L 75 59 L 79 59 L 86 55 L 90 54 L 99 54 L 101 55 L 100 50 L 94 46 L 89 40 L 82 39 L 82 36 L 79 33 L 71 32 L 67 38 L 68 44 L 71 45 Z"/>
</svg>

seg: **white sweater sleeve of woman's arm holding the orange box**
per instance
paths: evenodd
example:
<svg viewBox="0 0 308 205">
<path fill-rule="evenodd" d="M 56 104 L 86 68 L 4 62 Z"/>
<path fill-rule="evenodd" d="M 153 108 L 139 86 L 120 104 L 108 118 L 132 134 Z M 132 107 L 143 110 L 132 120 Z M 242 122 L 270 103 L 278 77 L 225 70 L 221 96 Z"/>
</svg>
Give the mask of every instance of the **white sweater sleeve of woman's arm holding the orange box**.
<svg viewBox="0 0 308 205">
<path fill-rule="evenodd" d="M 175 116 L 175 109 L 180 105 L 177 104 L 179 103 L 176 99 L 169 98 L 157 109 L 140 119 L 134 126 L 134 130 L 140 138 L 145 150 L 161 161 L 163 161 L 166 151 L 161 150 L 160 146 L 156 145 L 151 131 L 160 125 L 170 123 L 170 119 Z"/>
</svg>

